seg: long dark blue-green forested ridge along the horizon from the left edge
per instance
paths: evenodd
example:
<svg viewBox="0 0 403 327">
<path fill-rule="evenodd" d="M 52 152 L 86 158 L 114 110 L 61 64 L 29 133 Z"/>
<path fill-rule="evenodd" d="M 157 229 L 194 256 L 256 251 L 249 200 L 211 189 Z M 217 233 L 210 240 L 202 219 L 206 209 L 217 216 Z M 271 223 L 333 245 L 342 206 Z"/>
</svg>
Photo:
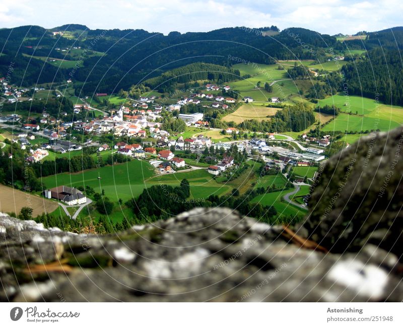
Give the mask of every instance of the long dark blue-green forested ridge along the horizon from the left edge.
<svg viewBox="0 0 403 327">
<path fill-rule="evenodd" d="M 63 35 L 56 34 L 61 32 Z M 73 30 L 76 29 L 76 30 Z M 231 66 L 228 59 L 236 56 L 258 63 L 274 63 L 275 59 L 315 59 L 294 35 L 306 40 L 312 48 L 344 45 L 334 37 L 317 32 L 290 28 L 279 33 L 272 27 L 272 36 L 262 32 L 270 28 L 224 28 L 206 33 L 150 33 L 144 30 L 89 30 L 83 25 L 63 25 L 46 30 L 39 26 L 22 26 L 0 30 L 0 70 L 6 75 L 14 62 L 13 82 L 29 86 L 36 83 L 60 82 L 69 78 L 72 68 L 57 67 L 46 57 L 80 60 L 73 80 L 84 82 L 83 91 L 112 92 L 127 89 L 148 79 L 192 62 Z M 81 47 L 78 50 L 61 51 Z M 35 57 L 29 57 L 33 55 Z M 38 58 L 40 57 L 40 58 Z M 154 70 L 158 70 L 154 72 Z"/>
</svg>

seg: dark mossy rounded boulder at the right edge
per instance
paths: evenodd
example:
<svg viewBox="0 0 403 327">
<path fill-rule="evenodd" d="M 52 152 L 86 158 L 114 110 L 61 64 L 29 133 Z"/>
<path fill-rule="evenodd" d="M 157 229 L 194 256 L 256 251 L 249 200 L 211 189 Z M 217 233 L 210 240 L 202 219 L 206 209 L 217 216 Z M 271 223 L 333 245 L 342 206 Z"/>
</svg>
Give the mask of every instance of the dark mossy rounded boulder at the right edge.
<svg viewBox="0 0 403 327">
<path fill-rule="evenodd" d="M 308 238 L 333 253 L 371 243 L 402 258 L 402 132 L 361 138 L 318 170 L 303 224 Z"/>
</svg>

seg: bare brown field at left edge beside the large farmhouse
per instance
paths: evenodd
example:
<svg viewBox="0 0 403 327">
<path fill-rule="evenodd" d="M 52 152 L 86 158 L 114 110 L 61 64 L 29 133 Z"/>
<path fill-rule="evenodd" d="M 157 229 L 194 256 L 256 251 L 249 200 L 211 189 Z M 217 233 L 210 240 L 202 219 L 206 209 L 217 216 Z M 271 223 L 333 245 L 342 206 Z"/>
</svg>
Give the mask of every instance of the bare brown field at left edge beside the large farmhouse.
<svg viewBox="0 0 403 327">
<path fill-rule="evenodd" d="M 31 205 L 29 205 L 31 204 Z M 56 202 L 49 201 L 31 193 L 0 184 L 0 212 L 14 212 L 18 215 L 22 207 L 31 207 L 32 216 L 51 213 L 58 207 Z"/>
</svg>

